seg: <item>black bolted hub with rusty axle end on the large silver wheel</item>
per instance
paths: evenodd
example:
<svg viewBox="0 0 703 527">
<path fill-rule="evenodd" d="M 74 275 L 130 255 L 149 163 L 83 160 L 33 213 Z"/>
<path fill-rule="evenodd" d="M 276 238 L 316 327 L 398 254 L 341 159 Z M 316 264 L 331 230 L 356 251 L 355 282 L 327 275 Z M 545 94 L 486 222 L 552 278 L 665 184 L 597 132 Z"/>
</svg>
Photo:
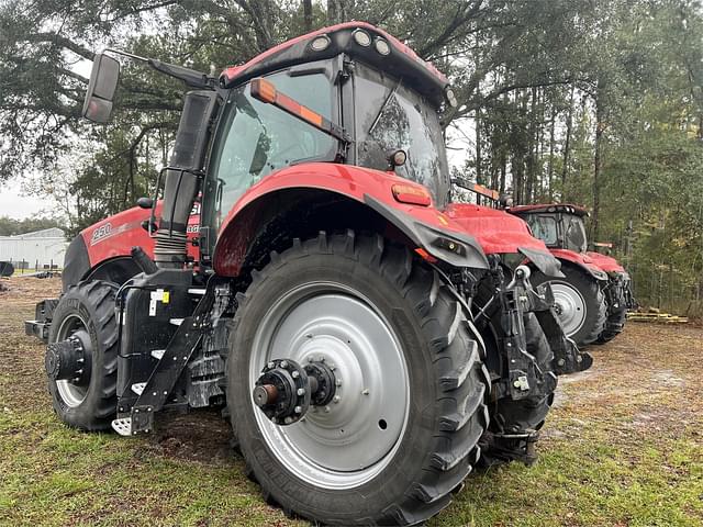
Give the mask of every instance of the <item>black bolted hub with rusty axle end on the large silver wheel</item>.
<svg viewBox="0 0 703 527">
<path fill-rule="evenodd" d="M 324 406 L 336 391 L 334 373 L 324 362 L 304 368 L 291 359 L 269 361 L 256 380 L 252 396 L 271 423 L 298 423 L 310 406 Z"/>
</svg>

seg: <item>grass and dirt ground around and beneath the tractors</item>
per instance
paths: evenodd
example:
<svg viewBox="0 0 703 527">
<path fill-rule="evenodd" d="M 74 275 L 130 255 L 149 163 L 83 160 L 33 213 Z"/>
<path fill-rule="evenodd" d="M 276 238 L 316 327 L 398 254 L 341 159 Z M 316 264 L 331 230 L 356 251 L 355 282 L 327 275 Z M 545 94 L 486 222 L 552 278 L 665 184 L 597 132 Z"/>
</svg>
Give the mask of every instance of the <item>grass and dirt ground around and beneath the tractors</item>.
<svg viewBox="0 0 703 527">
<path fill-rule="evenodd" d="M 2 284 L 0 525 L 305 525 L 264 502 L 216 412 L 137 439 L 60 424 L 23 329 L 59 280 Z M 539 461 L 472 474 L 429 525 L 703 525 L 703 328 L 631 323 L 590 351 L 560 379 Z"/>
</svg>

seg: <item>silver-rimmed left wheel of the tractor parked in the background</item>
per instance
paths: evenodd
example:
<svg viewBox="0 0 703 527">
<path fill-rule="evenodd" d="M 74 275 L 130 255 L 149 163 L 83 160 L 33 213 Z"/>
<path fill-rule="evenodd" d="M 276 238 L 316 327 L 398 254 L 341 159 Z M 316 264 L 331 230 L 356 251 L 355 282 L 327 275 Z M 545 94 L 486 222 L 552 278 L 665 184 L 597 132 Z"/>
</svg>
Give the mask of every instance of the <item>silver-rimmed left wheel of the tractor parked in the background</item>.
<svg viewBox="0 0 703 527">
<path fill-rule="evenodd" d="M 546 277 L 539 271 L 529 279 L 534 285 L 551 284 L 555 310 L 567 337 L 578 346 L 595 341 L 605 327 L 607 305 L 598 281 L 584 271 L 562 266 L 566 278 Z"/>
</svg>

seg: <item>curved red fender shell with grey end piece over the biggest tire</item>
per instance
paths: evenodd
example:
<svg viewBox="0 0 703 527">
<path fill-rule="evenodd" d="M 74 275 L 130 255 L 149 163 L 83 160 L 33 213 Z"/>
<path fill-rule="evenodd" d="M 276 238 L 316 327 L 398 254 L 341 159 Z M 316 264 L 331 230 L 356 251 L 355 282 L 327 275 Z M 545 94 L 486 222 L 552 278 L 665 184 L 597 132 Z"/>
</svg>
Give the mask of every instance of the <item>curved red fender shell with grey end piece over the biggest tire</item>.
<svg viewBox="0 0 703 527">
<path fill-rule="evenodd" d="M 244 264 L 249 244 L 254 240 L 261 217 L 266 214 L 264 198 L 281 190 L 316 189 L 341 194 L 364 203 L 398 226 L 419 247 L 453 265 L 488 268 L 486 255 L 460 224 L 428 206 L 401 203 L 393 197 L 392 187 L 402 184 L 419 192 L 425 187 L 397 176 L 353 165 L 309 162 L 283 168 L 249 188 L 235 203 L 220 229 L 213 266 L 219 274 L 235 277 Z M 461 247 L 464 255 L 433 245 L 438 236 L 449 237 Z"/>
</svg>

